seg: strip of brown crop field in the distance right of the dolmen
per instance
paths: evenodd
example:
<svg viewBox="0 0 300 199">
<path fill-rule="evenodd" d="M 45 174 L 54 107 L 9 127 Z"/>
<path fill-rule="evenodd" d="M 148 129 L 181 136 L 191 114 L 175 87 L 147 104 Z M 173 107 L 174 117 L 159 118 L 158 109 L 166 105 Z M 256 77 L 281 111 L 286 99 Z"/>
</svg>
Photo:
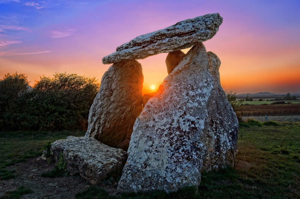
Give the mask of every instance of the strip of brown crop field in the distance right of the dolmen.
<svg viewBox="0 0 300 199">
<path fill-rule="evenodd" d="M 289 116 L 300 115 L 300 103 L 242 105 L 238 111 L 242 116 Z"/>
</svg>

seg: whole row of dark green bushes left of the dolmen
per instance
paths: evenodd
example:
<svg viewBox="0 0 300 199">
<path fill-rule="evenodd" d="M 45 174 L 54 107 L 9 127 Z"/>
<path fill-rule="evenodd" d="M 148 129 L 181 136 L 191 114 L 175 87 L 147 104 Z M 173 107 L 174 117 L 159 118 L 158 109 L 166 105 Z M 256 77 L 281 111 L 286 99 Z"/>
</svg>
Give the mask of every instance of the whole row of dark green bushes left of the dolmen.
<svg viewBox="0 0 300 199">
<path fill-rule="evenodd" d="M 29 86 L 24 74 L 0 80 L 0 130 L 86 129 L 98 93 L 95 78 L 55 73 Z"/>
</svg>

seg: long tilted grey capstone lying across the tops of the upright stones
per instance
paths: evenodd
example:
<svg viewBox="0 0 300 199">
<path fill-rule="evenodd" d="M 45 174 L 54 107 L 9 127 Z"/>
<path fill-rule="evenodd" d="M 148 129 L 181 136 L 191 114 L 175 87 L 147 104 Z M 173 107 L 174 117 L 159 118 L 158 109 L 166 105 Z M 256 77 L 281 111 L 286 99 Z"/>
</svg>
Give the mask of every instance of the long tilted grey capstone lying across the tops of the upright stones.
<svg viewBox="0 0 300 199">
<path fill-rule="evenodd" d="M 219 13 L 186 19 L 165 29 L 136 37 L 116 48 L 116 52 L 102 58 L 102 63 L 137 60 L 159 53 L 190 48 L 211 39 L 219 30 L 223 18 Z"/>
</svg>

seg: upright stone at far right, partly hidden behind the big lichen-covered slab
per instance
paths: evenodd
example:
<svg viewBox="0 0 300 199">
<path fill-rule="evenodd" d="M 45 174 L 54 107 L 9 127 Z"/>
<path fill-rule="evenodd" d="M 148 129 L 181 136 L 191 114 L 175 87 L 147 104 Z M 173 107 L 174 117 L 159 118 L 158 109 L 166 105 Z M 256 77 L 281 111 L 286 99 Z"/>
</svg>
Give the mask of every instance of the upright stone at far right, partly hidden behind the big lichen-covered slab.
<svg viewBox="0 0 300 199">
<path fill-rule="evenodd" d="M 219 68 L 221 61 L 213 52 L 207 52 L 209 71 L 214 77 L 213 93 L 208 102 L 207 130 L 201 140 L 208 149 L 203 160 L 202 171 L 210 171 L 226 165 L 233 166 L 237 150 L 238 119 L 233 111 L 221 82 Z"/>
</svg>

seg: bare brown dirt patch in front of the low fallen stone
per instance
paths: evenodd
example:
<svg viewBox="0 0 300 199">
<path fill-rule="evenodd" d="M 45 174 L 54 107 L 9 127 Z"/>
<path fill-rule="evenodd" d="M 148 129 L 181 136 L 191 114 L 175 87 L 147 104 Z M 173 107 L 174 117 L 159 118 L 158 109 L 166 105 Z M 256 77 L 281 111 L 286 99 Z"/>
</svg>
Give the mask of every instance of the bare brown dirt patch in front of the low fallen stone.
<svg viewBox="0 0 300 199">
<path fill-rule="evenodd" d="M 41 173 L 55 168 L 54 163 L 48 164 L 40 158 L 30 158 L 26 162 L 19 162 L 6 167 L 15 170 L 17 176 L 9 180 L 0 180 L 0 197 L 7 191 L 14 191 L 20 186 L 31 189 L 31 194 L 21 196 L 21 199 L 71 199 L 76 193 L 88 189 L 89 184 L 80 176 L 63 176 L 56 178 L 41 177 Z M 110 194 L 116 194 L 116 185 L 99 185 Z"/>
</svg>

